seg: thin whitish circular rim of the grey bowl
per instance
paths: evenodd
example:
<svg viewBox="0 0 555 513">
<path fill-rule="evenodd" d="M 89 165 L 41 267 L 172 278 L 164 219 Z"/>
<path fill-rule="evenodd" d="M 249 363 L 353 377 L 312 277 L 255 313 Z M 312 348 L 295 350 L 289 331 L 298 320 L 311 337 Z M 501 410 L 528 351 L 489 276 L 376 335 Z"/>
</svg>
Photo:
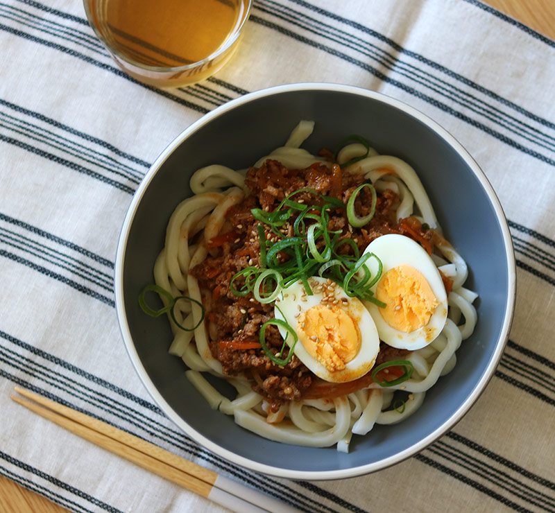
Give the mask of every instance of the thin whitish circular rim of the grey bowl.
<svg viewBox="0 0 555 513">
<path fill-rule="evenodd" d="M 507 261 L 507 268 L 508 268 L 508 276 L 507 276 L 507 283 L 509 286 L 509 297 L 507 298 L 507 304 L 504 311 L 504 318 L 502 329 L 499 333 L 497 338 L 497 342 L 495 345 L 495 351 L 488 362 L 486 370 L 484 374 L 481 376 L 479 381 L 475 383 L 474 388 L 472 389 L 472 393 L 466 398 L 466 400 L 461 403 L 459 408 L 455 410 L 453 415 L 447 419 L 447 421 L 443 422 L 443 424 L 436 426 L 434 431 L 429 433 L 425 438 L 409 446 L 404 451 L 400 451 L 399 453 L 395 453 L 394 455 L 389 456 L 388 458 L 384 458 L 382 460 L 378 460 L 376 462 L 371 462 L 364 465 L 359 465 L 357 467 L 350 467 L 347 469 L 336 469 L 336 470 L 323 470 L 323 471 L 299 471 L 293 469 L 283 469 L 280 467 L 273 467 L 269 464 L 263 464 L 259 462 L 255 462 L 246 458 L 244 456 L 238 455 L 229 451 L 228 449 L 224 449 L 219 444 L 208 440 L 202 433 L 199 433 L 194 428 L 189 426 L 187 422 L 182 419 L 173 408 L 167 403 L 167 401 L 162 397 L 160 392 L 158 392 L 151 381 L 150 377 L 146 373 L 144 366 L 142 365 L 141 361 L 139 360 L 139 356 L 135 349 L 135 345 L 133 344 L 133 339 L 131 338 L 130 329 L 128 326 L 126 313 L 125 313 L 125 301 L 123 298 L 123 263 L 125 261 L 126 256 L 126 244 L 128 241 L 128 234 L 130 226 L 133 223 L 133 219 L 135 218 L 135 214 L 137 212 L 137 208 L 139 207 L 142 198 L 144 197 L 144 193 L 146 189 L 148 189 L 148 185 L 153 180 L 153 177 L 160 169 L 160 166 L 166 161 L 166 159 L 173 153 L 182 141 L 187 139 L 191 134 L 202 128 L 204 125 L 210 123 L 213 119 L 220 116 L 221 114 L 228 112 L 230 110 L 234 110 L 235 108 L 239 107 L 240 105 L 244 105 L 245 103 L 250 103 L 255 101 L 259 98 L 264 98 L 266 96 L 273 96 L 275 94 L 282 94 L 287 92 L 302 92 L 302 91 L 315 91 L 315 92 L 338 92 L 343 94 L 353 94 L 356 96 L 365 96 L 366 98 L 370 98 L 375 101 L 379 101 L 382 103 L 386 103 L 391 105 L 391 107 L 395 107 L 399 110 L 402 110 L 404 113 L 409 114 L 409 116 L 413 116 L 414 118 L 418 119 L 424 125 L 427 125 L 428 128 L 432 129 L 436 134 L 438 134 L 441 138 L 443 138 L 447 144 L 449 144 L 463 159 L 466 165 L 472 170 L 475 174 L 475 177 L 479 180 L 482 188 L 486 192 L 488 196 L 488 200 L 490 201 L 491 206 L 495 211 L 495 216 L 497 218 L 497 223 L 499 224 L 499 228 L 502 232 L 502 238 L 504 242 L 504 250 L 506 254 L 506 261 Z M 415 455 L 416 453 L 425 449 L 429 444 L 435 442 L 439 437 L 449 431 L 457 422 L 461 420 L 463 415 L 468 412 L 470 407 L 475 403 L 478 399 L 480 394 L 486 388 L 486 385 L 490 381 L 495 372 L 497 364 L 502 356 L 502 352 L 504 351 L 504 347 L 506 345 L 506 341 L 509 338 L 509 331 L 511 329 L 511 323 L 513 320 L 513 313 L 515 308 L 515 297 L 516 297 L 516 267 L 515 267 L 515 255 L 513 250 L 513 244 L 511 242 L 511 234 L 509 232 L 509 225 L 506 222 L 506 217 L 504 211 L 502 209 L 502 205 L 499 202 L 499 198 L 497 198 L 497 194 L 495 193 L 493 186 L 490 184 L 488 178 L 481 171 L 481 168 L 475 162 L 475 160 L 470 156 L 470 153 L 463 148 L 463 146 L 457 141 L 450 132 L 447 132 L 441 125 L 436 123 L 433 119 L 431 119 L 427 114 L 423 114 L 415 107 L 404 103 L 396 98 L 391 98 L 391 96 L 386 96 L 383 93 L 375 92 L 370 89 L 364 89 L 357 86 L 351 85 L 342 85 L 342 84 L 333 84 L 327 82 L 302 82 L 297 84 L 287 84 L 287 85 L 278 85 L 273 87 L 268 87 L 266 89 L 260 89 L 256 92 L 251 92 L 245 94 L 244 96 L 240 96 L 239 98 L 235 98 L 234 100 L 229 101 L 219 107 L 216 107 L 214 110 L 204 114 L 200 119 L 189 125 L 189 127 L 185 128 L 171 143 L 164 148 L 162 153 L 157 157 L 155 162 L 151 165 L 151 168 L 147 171 L 146 175 L 144 176 L 142 182 L 139 184 L 137 191 L 133 195 L 133 199 L 130 202 L 128 207 L 128 211 L 126 216 L 123 220 L 123 225 L 121 228 L 121 234 L 119 236 L 119 241 L 117 245 L 117 253 L 116 253 L 116 260 L 114 266 L 114 293 L 115 293 L 115 304 L 116 304 L 116 313 L 119 322 L 119 328 L 121 331 L 121 335 L 123 337 L 123 342 L 126 345 L 126 349 L 130 356 L 130 359 L 135 367 L 135 371 L 139 375 L 139 378 L 143 382 L 146 390 L 151 397 L 157 403 L 158 406 L 162 409 L 165 415 L 173 421 L 179 428 L 182 429 L 187 435 L 189 435 L 193 440 L 195 440 L 198 444 L 203 446 L 205 449 L 212 451 L 222 458 L 226 460 L 240 465 L 246 469 L 250 469 L 253 471 L 261 472 L 269 476 L 275 476 L 279 478 L 289 478 L 289 479 L 298 479 L 298 480 L 331 480 L 331 479 L 343 479 L 343 478 L 351 478 L 355 476 L 361 476 L 366 473 L 371 473 L 374 471 L 386 469 L 387 467 L 391 467 L 393 464 L 397 464 L 406 460 L 407 458 Z"/>
</svg>

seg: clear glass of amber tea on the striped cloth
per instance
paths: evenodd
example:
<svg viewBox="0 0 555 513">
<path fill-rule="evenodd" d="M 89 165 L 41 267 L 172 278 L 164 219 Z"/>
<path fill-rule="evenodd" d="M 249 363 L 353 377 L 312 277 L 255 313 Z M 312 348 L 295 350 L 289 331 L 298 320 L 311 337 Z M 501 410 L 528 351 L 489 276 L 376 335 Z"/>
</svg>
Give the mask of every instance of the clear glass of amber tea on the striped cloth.
<svg viewBox="0 0 555 513">
<path fill-rule="evenodd" d="M 156 87 L 200 82 L 230 60 L 252 0 L 83 0 L 128 75 Z"/>
</svg>

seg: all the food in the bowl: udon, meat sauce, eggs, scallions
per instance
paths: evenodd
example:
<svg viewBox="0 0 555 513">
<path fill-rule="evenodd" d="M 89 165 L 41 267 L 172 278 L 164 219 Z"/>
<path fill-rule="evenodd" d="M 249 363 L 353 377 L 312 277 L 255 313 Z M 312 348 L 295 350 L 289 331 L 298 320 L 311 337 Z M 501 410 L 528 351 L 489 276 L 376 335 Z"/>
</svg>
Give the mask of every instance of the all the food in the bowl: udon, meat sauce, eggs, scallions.
<svg viewBox="0 0 555 513">
<path fill-rule="evenodd" d="M 139 304 L 168 314 L 169 351 L 212 408 L 270 440 L 346 452 L 456 365 L 477 294 L 413 168 L 359 136 L 311 155 L 313 128 L 301 121 L 246 170 L 194 173 Z"/>
</svg>

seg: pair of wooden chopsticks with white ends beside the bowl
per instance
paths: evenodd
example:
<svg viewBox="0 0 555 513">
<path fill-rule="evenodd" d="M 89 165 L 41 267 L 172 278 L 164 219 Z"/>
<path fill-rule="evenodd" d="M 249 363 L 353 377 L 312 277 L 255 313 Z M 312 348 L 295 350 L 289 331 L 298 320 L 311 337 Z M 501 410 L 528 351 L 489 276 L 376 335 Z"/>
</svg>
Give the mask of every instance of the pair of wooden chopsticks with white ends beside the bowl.
<svg viewBox="0 0 555 513">
<path fill-rule="evenodd" d="M 224 507 L 240 513 L 296 511 L 281 501 L 275 501 L 253 489 L 248 489 L 210 469 L 180 458 L 162 447 L 121 431 L 99 419 L 89 417 L 24 388 L 15 387 L 14 391 L 23 397 L 12 395 L 11 398 L 25 408 L 55 422 L 71 433 L 89 440 L 89 442 L 108 449 L 140 467 Z"/>
</svg>

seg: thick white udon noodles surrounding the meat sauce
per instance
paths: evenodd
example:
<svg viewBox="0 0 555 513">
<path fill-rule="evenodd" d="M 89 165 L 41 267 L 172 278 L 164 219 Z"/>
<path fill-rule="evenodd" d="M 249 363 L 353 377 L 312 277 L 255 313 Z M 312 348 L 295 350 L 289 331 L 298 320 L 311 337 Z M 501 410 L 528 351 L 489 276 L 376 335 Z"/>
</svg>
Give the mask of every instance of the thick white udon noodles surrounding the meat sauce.
<svg viewBox="0 0 555 513">
<path fill-rule="evenodd" d="M 313 127 L 314 123 L 301 121 L 284 146 L 259 159 L 254 167 L 259 168 L 268 159 L 288 169 L 305 169 L 314 163 L 332 166 L 330 155 L 311 155 L 300 148 Z M 477 294 L 463 286 L 468 275 L 466 263 L 441 236 L 434 209 L 418 175 L 401 159 L 378 155 L 372 148 L 365 149 L 358 142 L 344 146 L 336 155 L 336 162 L 349 162 L 363 154 L 366 155 L 364 158 L 345 166 L 345 173 L 363 176 L 378 193 L 393 191 L 398 198 L 394 205 L 395 218 L 402 220 L 412 216 L 434 232 L 432 260 L 450 283 L 448 315 L 441 334 L 425 347 L 404 353 L 413 373 L 402 383 L 382 386 L 370 380 L 359 390 L 334 397 L 314 399 L 301 394 L 300 399 L 277 401 L 272 405 L 268 397 L 260 393 L 259 387 L 253 388 L 252 374 L 225 374 L 221 361 L 211 350 L 215 330 L 210 325 L 210 315 L 205 317 L 201 306 L 206 302 L 207 291 L 201 289 L 192 270 L 217 252 L 210 247 L 210 241 L 220 236 L 223 229 L 225 231 L 226 213 L 250 193 L 246 186 L 247 170 L 234 171 L 211 165 L 196 171 L 190 181 L 194 195 L 183 200 L 173 211 L 164 249 L 155 262 L 154 276 L 158 287 L 167 290 L 172 297 L 194 299 L 176 302 L 173 315 L 168 316 L 173 330 L 169 352 L 187 364 L 188 379 L 212 408 L 232 415 L 239 426 L 270 440 L 303 446 L 336 445 L 339 451 L 348 451 L 353 434 L 366 435 L 377 424 L 404 421 L 420 407 L 427 390 L 440 376 L 453 369 L 456 350 L 475 327 L 477 313 L 472 302 Z M 162 300 L 169 302 L 164 295 Z M 189 331 L 181 329 L 178 324 Z M 246 351 L 255 353 L 260 350 Z M 236 396 L 232 399 L 225 397 L 205 379 L 203 373 L 228 381 L 237 390 Z"/>
</svg>

